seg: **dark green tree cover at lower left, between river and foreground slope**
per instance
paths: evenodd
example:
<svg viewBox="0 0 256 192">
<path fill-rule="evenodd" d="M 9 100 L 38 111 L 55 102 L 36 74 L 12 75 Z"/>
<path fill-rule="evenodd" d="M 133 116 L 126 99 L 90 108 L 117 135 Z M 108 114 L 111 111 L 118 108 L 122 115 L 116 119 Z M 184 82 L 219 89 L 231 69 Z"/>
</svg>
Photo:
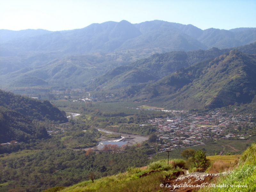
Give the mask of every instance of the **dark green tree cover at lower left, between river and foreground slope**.
<svg viewBox="0 0 256 192">
<path fill-rule="evenodd" d="M 69 186 L 91 179 L 91 173 L 95 174 L 92 179 L 96 179 L 124 172 L 128 167 L 144 166 L 149 162 L 147 156 L 155 153 L 148 145 L 118 148 L 117 153 L 104 150 L 100 153 L 85 153 L 82 150 L 65 149 L 61 143 L 52 145 L 51 149 L 44 143 L 40 143 L 41 149 L 38 150 L 1 155 L 0 184 L 4 185 L 3 190 L 20 188 L 34 192 L 55 186 Z"/>
</svg>

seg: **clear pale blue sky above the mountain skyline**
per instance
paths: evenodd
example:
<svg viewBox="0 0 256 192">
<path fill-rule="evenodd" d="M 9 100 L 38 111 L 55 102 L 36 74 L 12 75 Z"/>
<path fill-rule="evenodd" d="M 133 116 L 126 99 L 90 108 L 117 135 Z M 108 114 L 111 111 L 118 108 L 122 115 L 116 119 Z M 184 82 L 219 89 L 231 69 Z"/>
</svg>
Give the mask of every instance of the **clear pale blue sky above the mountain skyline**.
<svg viewBox="0 0 256 192">
<path fill-rule="evenodd" d="M 0 0 L 0 29 L 57 31 L 110 20 L 256 27 L 256 0 Z"/>
</svg>

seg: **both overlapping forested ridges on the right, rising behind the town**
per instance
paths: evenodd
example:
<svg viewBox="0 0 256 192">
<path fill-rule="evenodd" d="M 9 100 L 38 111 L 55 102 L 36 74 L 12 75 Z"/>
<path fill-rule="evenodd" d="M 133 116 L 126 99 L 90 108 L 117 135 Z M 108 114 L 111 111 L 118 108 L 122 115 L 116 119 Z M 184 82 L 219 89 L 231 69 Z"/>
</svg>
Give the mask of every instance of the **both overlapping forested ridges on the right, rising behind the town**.
<svg viewBox="0 0 256 192">
<path fill-rule="evenodd" d="M 256 60 L 246 53 L 256 53 L 256 43 L 233 50 L 155 54 L 109 71 L 91 88 L 95 94 L 161 101 L 183 109 L 251 103 L 256 94 Z"/>
</svg>

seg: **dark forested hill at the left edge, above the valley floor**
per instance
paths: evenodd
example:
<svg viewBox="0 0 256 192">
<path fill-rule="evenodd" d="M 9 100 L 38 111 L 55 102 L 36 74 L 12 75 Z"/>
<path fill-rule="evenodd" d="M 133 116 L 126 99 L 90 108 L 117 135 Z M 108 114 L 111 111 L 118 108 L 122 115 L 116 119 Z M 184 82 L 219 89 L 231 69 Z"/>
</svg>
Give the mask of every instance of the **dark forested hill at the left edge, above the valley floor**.
<svg viewBox="0 0 256 192">
<path fill-rule="evenodd" d="M 32 121 L 67 122 L 66 116 L 49 101 L 39 101 L 0 90 L 0 143 L 45 138 L 45 127 Z"/>
</svg>

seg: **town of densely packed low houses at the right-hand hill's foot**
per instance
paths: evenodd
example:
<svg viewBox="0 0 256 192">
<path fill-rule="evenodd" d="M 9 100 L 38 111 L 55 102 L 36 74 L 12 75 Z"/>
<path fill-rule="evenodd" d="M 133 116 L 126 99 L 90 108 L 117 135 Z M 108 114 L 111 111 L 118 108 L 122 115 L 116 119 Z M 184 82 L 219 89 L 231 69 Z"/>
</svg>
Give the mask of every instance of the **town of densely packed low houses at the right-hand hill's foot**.
<svg viewBox="0 0 256 192">
<path fill-rule="evenodd" d="M 147 123 L 157 128 L 162 150 L 204 145 L 206 140 L 244 140 L 256 134 L 254 117 L 221 110 L 204 116 L 180 111 L 180 116 L 150 119 Z"/>
</svg>

